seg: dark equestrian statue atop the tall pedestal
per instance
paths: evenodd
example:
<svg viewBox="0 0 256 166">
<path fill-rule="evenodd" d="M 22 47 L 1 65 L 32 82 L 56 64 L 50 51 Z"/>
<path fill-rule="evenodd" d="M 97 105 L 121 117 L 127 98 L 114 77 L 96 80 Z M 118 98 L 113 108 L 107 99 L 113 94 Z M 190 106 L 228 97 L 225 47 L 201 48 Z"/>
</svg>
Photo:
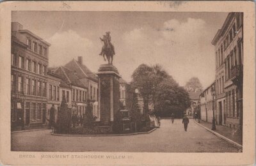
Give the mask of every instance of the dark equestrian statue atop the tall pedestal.
<svg viewBox="0 0 256 166">
<path fill-rule="evenodd" d="M 103 38 L 100 38 L 100 40 L 103 41 L 104 45 L 102 46 L 99 56 L 103 56 L 104 61 L 106 61 L 106 57 L 107 57 L 108 64 L 112 64 L 113 56 L 115 55 L 115 47 L 111 43 L 110 32 L 106 32 L 106 34 L 104 34 Z"/>
</svg>

